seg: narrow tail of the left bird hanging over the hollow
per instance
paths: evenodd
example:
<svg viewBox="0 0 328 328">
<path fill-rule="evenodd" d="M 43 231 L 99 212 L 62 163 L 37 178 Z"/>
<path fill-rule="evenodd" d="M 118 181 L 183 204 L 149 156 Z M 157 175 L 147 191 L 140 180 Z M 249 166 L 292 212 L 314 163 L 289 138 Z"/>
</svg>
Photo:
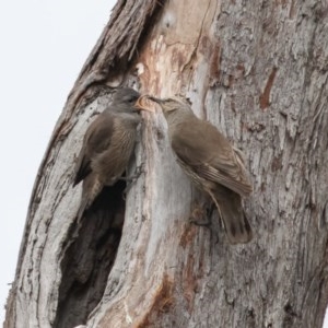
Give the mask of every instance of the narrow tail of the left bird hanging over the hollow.
<svg viewBox="0 0 328 328">
<path fill-rule="evenodd" d="M 82 199 L 78 211 L 78 222 L 82 219 L 84 212 L 91 207 L 95 198 L 102 191 L 104 185 L 99 181 L 97 175 L 90 174 L 83 180 Z"/>
</svg>

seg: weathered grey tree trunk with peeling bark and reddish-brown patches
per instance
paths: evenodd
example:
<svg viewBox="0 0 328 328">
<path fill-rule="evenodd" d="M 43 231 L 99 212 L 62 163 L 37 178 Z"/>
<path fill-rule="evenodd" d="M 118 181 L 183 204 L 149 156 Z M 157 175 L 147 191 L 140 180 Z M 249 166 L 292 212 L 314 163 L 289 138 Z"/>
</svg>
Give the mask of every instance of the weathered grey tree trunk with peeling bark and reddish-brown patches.
<svg viewBox="0 0 328 328">
<path fill-rule="evenodd" d="M 328 9 L 324 2 L 119 0 L 69 95 L 31 199 L 4 327 L 321 327 L 328 300 Z M 130 188 L 75 224 L 71 175 L 113 87 L 185 95 L 243 150 L 255 237 L 231 246 L 143 114 Z M 28 323 L 28 325 L 26 324 Z M 27 326 L 26 326 L 27 325 Z"/>
</svg>

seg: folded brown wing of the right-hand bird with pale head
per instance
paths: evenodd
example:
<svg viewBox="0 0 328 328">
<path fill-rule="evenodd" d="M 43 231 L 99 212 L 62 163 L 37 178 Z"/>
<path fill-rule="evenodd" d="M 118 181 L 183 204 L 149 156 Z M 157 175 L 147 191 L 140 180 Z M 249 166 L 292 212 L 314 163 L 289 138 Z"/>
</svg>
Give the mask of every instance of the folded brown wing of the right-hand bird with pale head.
<svg viewBox="0 0 328 328">
<path fill-rule="evenodd" d="M 247 196 L 253 188 L 239 154 L 209 122 L 197 118 L 192 126 L 181 125 L 172 138 L 172 148 L 200 177 Z"/>
</svg>

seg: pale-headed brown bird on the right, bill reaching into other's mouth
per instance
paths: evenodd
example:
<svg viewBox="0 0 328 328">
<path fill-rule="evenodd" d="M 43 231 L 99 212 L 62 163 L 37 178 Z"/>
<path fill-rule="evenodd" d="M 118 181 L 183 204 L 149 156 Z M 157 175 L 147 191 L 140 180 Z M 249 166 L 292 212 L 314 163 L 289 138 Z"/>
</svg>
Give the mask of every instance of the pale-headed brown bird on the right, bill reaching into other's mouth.
<svg viewBox="0 0 328 328">
<path fill-rule="evenodd" d="M 145 97 L 157 103 L 167 121 L 168 139 L 183 171 L 218 208 L 231 244 L 253 239 L 242 197 L 253 191 L 242 152 L 212 124 L 199 119 L 184 97 Z"/>
</svg>

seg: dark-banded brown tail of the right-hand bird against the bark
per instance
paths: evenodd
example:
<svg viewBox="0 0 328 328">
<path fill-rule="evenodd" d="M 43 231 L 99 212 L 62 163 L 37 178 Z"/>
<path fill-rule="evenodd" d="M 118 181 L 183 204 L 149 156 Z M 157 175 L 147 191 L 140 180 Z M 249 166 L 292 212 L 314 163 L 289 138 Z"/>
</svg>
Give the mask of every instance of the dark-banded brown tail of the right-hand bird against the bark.
<svg viewBox="0 0 328 328">
<path fill-rule="evenodd" d="M 250 242 L 253 232 L 245 216 L 241 196 L 221 186 L 215 190 L 210 190 L 209 194 L 216 204 L 230 243 L 246 244 Z"/>
</svg>

